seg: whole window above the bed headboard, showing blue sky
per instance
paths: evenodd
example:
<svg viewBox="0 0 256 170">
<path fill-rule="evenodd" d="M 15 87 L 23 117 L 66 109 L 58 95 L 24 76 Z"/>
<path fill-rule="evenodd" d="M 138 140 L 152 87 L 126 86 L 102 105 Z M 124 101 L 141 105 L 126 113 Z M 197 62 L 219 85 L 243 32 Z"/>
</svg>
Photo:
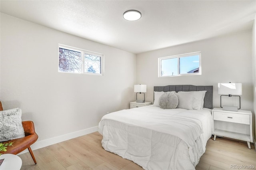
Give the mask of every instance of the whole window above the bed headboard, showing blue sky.
<svg viewBox="0 0 256 170">
<path fill-rule="evenodd" d="M 201 75 L 201 52 L 158 58 L 159 77 Z"/>
</svg>

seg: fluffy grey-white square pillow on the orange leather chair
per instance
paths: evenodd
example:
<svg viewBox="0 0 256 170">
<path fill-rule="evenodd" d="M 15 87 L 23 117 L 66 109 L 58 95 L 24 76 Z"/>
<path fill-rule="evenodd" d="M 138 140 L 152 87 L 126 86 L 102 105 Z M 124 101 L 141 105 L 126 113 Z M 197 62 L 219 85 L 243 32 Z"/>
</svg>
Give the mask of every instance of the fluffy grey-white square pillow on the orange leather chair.
<svg viewBox="0 0 256 170">
<path fill-rule="evenodd" d="M 21 109 L 0 111 L 0 142 L 25 136 L 21 120 Z"/>
</svg>

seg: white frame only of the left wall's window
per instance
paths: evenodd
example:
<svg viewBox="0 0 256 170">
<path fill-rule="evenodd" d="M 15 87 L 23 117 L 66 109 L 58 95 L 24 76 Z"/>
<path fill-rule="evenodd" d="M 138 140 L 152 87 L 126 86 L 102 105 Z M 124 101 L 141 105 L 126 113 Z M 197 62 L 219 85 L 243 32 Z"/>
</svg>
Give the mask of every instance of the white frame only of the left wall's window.
<svg viewBox="0 0 256 170">
<path fill-rule="evenodd" d="M 60 48 L 67 49 L 67 50 L 72 50 L 72 51 L 76 51 L 76 52 L 80 52 L 81 53 L 81 73 L 74 73 L 74 74 L 104 75 L 104 55 L 103 54 L 96 53 L 96 52 L 93 52 L 93 51 L 88 51 L 88 50 L 85 50 L 85 49 L 76 48 L 76 47 L 70 47 L 68 45 L 59 44 L 58 45 L 58 57 L 60 55 Z M 94 56 L 100 57 L 100 73 L 87 73 L 87 72 L 84 72 L 84 54 L 85 53 L 89 54 L 89 55 L 94 55 Z M 60 62 L 60 60 L 58 59 L 58 72 L 59 73 L 72 73 L 72 72 L 60 71 L 60 69 L 59 69 L 59 62 Z"/>
</svg>

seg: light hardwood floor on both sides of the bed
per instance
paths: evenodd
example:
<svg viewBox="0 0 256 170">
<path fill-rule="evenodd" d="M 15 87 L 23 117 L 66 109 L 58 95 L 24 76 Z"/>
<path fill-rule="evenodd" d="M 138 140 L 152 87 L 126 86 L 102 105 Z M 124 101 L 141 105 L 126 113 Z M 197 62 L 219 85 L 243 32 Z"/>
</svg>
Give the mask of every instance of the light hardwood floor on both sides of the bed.
<svg viewBox="0 0 256 170">
<path fill-rule="evenodd" d="M 34 150 L 37 164 L 30 154 L 20 154 L 22 170 L 143 170 L 130 160 L 104 150 L 98 132 Z M 246 142 L 228 138 L 209 139 L 206 152 L 196 170 L 230 169 L 230 165 L 252 165 L 256 169 L 256 151 Z"/>
</svg>

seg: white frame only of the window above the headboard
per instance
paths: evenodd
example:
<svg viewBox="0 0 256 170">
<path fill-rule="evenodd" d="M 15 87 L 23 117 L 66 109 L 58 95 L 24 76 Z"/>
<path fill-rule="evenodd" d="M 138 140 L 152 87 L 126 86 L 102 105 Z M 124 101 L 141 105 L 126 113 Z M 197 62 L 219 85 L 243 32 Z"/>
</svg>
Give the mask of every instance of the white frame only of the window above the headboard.
<svg viewBox="0 0 256 170">
<path fill-rule="evenodd" d="M 185 74 L 183 73 L 183 74 L 180 74 L 180 58 L 182 58 L 182 57 L 190 57 L 190 56 L 194 56 L 194 55 L 199 55 L 199 72 L 197 72 L 197 73 L 185 73 Z M 165 76 L 162 76 L 161 75 L 161 71 L 162 71 L 161 61 L 164 60 L 164 59 L 171 59 L 171 58 L 177 58 L 178 59 L 178 62 L 177 62 L 178 74 L 177 75 L 165 75 Z M 176 76 L 187 76 L 187 75 L 202 75 L 201 51 L 158 58 L 158 77 L 176 77 Z"/>
</svg>

